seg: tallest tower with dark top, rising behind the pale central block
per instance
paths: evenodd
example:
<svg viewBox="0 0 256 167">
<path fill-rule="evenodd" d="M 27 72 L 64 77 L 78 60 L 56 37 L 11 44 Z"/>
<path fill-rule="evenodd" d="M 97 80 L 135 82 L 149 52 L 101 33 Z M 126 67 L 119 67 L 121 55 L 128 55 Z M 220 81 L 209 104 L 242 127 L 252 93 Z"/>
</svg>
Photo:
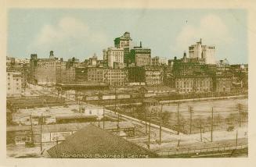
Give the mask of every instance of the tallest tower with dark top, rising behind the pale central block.
<svg viewBox="0 0 256 167">
<path fill-rule="evenodd" d="M 114 39 L 114 47 L 115 48 L 123 48 L 124 49 L 124 64 L 128 65 L 128 57 L 131 48 L 132 38 L 130 37 L 129 32 L 125 32 L 123 36 L 117 37 Z"/>
</svg>

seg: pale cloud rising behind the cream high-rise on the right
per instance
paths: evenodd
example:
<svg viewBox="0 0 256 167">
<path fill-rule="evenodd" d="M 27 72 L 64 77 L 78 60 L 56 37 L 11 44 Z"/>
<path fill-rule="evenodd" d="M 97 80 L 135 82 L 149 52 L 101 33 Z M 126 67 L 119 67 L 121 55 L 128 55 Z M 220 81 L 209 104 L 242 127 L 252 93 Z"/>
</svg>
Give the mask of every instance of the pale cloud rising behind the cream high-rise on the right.
<svg viewBox="0 0 256 167">
<path fill-rule="evenodd" d="M 171 51 L 182 54 L 183 51 L 188 51 L 189 45 L 195 44 L 200 38 L 203 44 L 215 45 L 217 49 L 219 44 L 231 44 L 233 41 L 222 19 L 211 14 L 202 17 L 198 26 L 187 24 L 182 27 Z"/>
</svg>

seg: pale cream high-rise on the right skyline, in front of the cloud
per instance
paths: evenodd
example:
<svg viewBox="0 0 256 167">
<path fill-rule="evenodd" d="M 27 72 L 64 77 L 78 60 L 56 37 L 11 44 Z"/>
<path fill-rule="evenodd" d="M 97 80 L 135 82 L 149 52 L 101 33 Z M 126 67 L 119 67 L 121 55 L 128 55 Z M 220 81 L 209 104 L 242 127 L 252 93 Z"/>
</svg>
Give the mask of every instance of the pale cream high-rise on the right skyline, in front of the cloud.
<svg viewBox="0 0 256 167">
<path fill-rule="evenodd" d="M 189 46 L 190 59 L 204 59 L 206 64 L 216 64 L 215 62 L 215 46 L 207 46 L 202 44 L 200 39 L 197 44 Z"/>
</svg>

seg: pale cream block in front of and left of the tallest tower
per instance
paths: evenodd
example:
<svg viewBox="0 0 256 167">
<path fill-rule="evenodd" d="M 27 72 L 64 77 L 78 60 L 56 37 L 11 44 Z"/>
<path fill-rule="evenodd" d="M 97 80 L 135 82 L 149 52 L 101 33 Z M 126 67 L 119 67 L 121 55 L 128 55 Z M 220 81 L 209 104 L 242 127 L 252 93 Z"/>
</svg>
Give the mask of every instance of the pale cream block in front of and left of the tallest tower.
<svg viewBox="0 0 256 167">
<path fill-rule="evenodd" d="M 124 48 L 110 47 L 103 50 L 103 59 L 107 62 L 107 66 L 115 68 L 116 66 L 124 66 Z"/>
</svg>

